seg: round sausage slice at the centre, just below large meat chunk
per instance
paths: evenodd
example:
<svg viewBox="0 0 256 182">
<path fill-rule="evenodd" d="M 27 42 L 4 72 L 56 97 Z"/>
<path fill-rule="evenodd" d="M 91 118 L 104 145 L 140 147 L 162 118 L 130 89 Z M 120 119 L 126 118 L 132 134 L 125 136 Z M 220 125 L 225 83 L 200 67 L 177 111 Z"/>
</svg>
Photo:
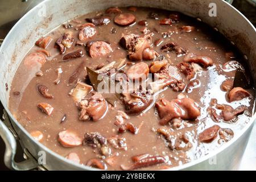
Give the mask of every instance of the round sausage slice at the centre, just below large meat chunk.
<svg viewBox="0 0 256 182">
<path fill-rule="evenodd" d="M 127 70 L 127 75 L 131 80 L 146 80 L 148 73 L 148 65 L 143 62 L 134 64 Z"/>
</svg>

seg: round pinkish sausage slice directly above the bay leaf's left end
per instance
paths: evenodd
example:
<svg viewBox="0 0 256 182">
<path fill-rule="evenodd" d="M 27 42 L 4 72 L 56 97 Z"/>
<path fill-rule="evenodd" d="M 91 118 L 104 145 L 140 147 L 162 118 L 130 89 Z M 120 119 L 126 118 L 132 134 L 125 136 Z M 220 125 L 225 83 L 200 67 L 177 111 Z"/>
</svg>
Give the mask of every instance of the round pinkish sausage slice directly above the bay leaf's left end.
<svg viewBox="0 0 256 182">
<path fill-rule="evenodd" d="M 89 54 L 92 58 L 106 56 L 112 51 L 110 44 L 103 41 L 94 42 L 89 47 Z"/>
</svg>

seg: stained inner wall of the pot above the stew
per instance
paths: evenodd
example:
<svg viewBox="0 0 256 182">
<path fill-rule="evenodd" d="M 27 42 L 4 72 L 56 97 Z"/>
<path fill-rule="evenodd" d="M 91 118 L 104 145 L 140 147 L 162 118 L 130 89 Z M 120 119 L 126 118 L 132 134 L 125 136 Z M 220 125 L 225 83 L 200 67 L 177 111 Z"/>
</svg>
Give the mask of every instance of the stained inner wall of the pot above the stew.
<svg viewBox="0 0 256 182">
<path fill-rule="evenodd" d="M 216 3 L 217 16 L 209 16 L 209 4 Z M 3 42 L 0 51 L 0 98 L 3 106 L 7 109 L 11 81 L 15 75 L 20 61 L 34 46 L 35 40 L 47 34 L 67 20 L 75 18 L 92 11 L 106 9 L 110 6 L 143 6 L 156 7 L 159 9 L 180 11 L 189 16 L 199 18 L 232 41 L 238 49 L 248 58 L 249 67 L 256 80 L 256 35 L 255 28 L 247 22 L 240 13 L 237 13 L 228 3 L 224 1 L 207 0 L 200 2 L 196 0 L 147 0 L 147 1 L 51 1 L 40 3 L 28 12 L 10 31 Z M 198 10 L 198 11 L 195 11 Z M 234 19 L 237 23 L 234 25 Z M 9 113 L 11 115 L 11 113 Z M 12 117 L 12 115 L 11 115 Z"/>
</svg>

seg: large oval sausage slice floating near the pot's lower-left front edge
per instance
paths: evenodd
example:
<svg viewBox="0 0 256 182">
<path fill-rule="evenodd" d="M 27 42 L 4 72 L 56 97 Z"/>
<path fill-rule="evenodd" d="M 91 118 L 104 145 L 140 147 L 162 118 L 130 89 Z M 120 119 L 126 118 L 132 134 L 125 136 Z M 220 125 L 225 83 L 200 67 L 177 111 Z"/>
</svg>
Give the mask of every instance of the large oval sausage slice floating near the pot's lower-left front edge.
<svg viewBox="0 0 256 182">
<path fill-rule="evenodd" d="M 82 139 L 76 133 L 69 130 L 61 131 L 58 140 L 63 147 L 76 147 L 82 144 Z"/>
</svg>

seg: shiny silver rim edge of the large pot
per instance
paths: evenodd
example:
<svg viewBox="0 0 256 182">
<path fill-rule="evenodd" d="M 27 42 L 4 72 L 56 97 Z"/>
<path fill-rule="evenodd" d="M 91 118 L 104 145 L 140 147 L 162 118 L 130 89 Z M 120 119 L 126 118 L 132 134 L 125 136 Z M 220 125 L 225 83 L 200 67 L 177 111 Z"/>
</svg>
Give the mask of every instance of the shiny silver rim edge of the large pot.
<svg viewBox="0 0 256 182">
<path fill-rule="evenodd" d="M 13 26 L 13 28 L 11 28 L 11 30 L 9 31 L 9 33 L 7 34 L 7 36 L 5 37 L 5 39 L 3 40 L 2 46 L 0 47 L 0 52 L 2 52 L 2 47 L 5 46 L 5 42 L 6 39 L 8 39 L 13 30 L 16 27 L 16 24 L 19 24 L 24 18 L 25 16 L 29 16 L 31 14 L 32 11 L 35 11 L 35 9 L 37 9 L 38 7 L 42 6 L 44 3 L 46 3 L 47 1 L 51 1 L 51 0 L 44 0 L 42 2 L 40 2 L 38 5 L 36 5 L 35 7 L 33 7 L 30 11 L 28 11 L 25 15 L 22 16 L 22 18 L 20 18 L 18 20 L 18 22 L 15 23 L 15 25 Z M 250 26 L 254 29 L 254 31 L 256 32 L 256 28 L 253 26 L 253 24 L 240 12 L 238 11 L 235 7 L 233 7 L 232 5 L 230 5 L 228 2 L 226 1 L 221 1 L 222 3 L 226 3 L 226 5 L 229 6 L 229 8 L 233 9 L 233 11 L 235 11 L 235 13 L 238 13 L 241 18 L 245 19 L 247 23 L 250 24 Z M 182 12 L 181 12 L 182 13 Z M 0 99 L 0 101 L 2 102 L 2 100 Z M 254 104 L 255 104 L 255 100 L 254 100 Z M 77 168 L 81 168 L 81 169 L 86 169 L 86 170 L 90 170 L 90 171 L 105 171 L 105 170 L 101 170 L 101 169 L 97 169 L 97 168 L 93 168 L 93 167 L 89 167 L 89 166 L 85 166 L 84 164 L 77 164 L 77 163 L 73 163 L 71 162 L 71 160 L 66 159 L 64 156 L 61 156 L 59 154 L 57 154 L 56 152 L 50 150 L 48 147 L 44 146 L 42 143 L 38 142 L 37 140 L 35 140 L 33 137 L 31 137 L 31 135 L 28 133 L 28 131 L 26 129 L 24 129 L 24 127 L 22 125 L 20 125 L 20 123 L 18 122 L 17 119 L 14 118 L 13 114 L 11 113 L 11 111 L 9 110 L 9 108 L 7 106 L 3 106 L 4 109 L 7 111 L 7 114 L 9 115 L 11 121 L 15 122 L 15 124 L 19 127 L 20 130 L 22 130 L 22 132 L 24 134 L 26 134 L 26 137 L 30 138 L 34 143 L 36 143 L 38 146 L 40 146 L 44 151 L 48 152 L 49 154 L 51 154 L 52 156 L 54 156 L 55 158 L 59 159 L 59 160 L 64 160 L 65 163 L 68 163 L 72 166 L 75 166 Z M 254 106 L 255 107 L 255 106 Z M 255 109 L 255 108 L 254 108 Z M 253 109 L 253 110 L 254 110 Z M 228 143 L 225 143 L 224 146 L 221 146 L 219 148 L 217 148 L 216 150 L 210 152 L 210 154 L 204 155 L 199 159 L 195 159 L 192 160 L 191 162 L 185 163 L 185 164 L 181 164 L 180 166 L 176 166 L 176 167 L 171 167 L 168 169 L 161 169 L 159 171 L 176 171 L 176 170 L 184 170 L 186 168 L 195 166 L 196 164 L 199 164 L 201 162 L 204 162 L 205 160 L 209 160 L 210 158 L 213 158 L 214 156 L 218 155 L 220 152 L 224 151 L 226 148 L 228 148 L 229 146 L 231 146 L 233 143 L 235 143 L 240 137 L 242 137 L 243 134 L 245 134 L 245 132 L 251 127 L 251 125 L 253 125 L 254 121 L 256 119 L 256 113 L 253 114 L 253 116 L 250 118 L 250 121 L 246 124 L 245 127 L 243 127 L 242 130 L 240 130 L 239 135 L 235 135 L 234 138 L 232 140 L 230 140 Z M 44 166 L 44 165 L 43 165 Z M 47 166 L 47 164 L 46 164 Z M 47 169 L 47 168 L 46 168 Z"/>
</svg>

